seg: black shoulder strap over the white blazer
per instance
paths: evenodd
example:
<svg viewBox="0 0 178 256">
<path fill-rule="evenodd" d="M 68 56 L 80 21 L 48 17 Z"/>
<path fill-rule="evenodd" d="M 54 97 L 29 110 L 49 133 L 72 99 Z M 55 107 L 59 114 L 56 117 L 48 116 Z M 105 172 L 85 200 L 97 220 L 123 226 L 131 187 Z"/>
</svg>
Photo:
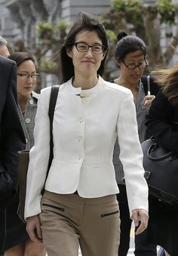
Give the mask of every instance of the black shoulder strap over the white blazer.
<svg viewBox="0 0 178 256">
<path fill-rule="evenodd" d="M 49 115 L 49 119 L 50 119 L 50 156 L 49 156 L 48 171 L 47 171 L 47 174 L 46 174 L 46 180 L 47 180 L 49 169 L 51 167 L 51 162 L 52 162 L 53 156 L 54 156 L 54 154 L 53 154 L 53 147 L 54 147 L 54 143 L 53 143 L 53 119 L 54 119 L 54 109 L 55 109 L 55 106 L 56 106 L 56 103 L 57 103 L 57 95 L 58 95 L 59 88 L 60 88 L 60 85 L 53 85 L 51 87 L 50 103 L 49 103 L 49 110 L 48 110 L 48 115 Z"/>
</svg>

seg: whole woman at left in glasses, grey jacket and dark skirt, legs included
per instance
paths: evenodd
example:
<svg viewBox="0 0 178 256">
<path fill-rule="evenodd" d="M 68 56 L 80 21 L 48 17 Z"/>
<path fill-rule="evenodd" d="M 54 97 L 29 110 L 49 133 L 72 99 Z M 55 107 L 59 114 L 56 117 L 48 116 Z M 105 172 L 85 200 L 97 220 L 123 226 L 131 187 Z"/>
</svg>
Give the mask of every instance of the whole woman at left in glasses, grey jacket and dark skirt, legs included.
<svg viewBox="0 0 178 256">
<path fill-rule="evenodd" d="M 26 137 L 26 149 L 34 144 L 33 130 L 39 94 L 33 90 L 38 74 L 35 59 L 29 52 L 16 52 L 8 57 L 17 64 L 17 97 L 20 122 Z M 44 245 L 32 242 L 26 232 L 26 224 L 17 214 L 19 200 L 14 194 L 7 210 L 7 230 L 5 240 L 5 256 L 44 256 Z"/>
</svg>

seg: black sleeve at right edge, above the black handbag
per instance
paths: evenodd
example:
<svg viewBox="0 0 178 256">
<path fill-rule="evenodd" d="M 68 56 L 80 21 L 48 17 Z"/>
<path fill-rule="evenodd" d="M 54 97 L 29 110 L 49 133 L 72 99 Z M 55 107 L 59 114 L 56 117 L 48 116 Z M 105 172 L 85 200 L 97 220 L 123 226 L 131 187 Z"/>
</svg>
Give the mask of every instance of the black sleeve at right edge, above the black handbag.
<svg viewBox="0 0 178 256">
<path fill-rule="evenodd" d="M 178 153 L 178 119 L 174 119 L 175 113 L 177 110 L 160 91 L 146 116 L 146 126 L 158 143 Z"/>
</svg>

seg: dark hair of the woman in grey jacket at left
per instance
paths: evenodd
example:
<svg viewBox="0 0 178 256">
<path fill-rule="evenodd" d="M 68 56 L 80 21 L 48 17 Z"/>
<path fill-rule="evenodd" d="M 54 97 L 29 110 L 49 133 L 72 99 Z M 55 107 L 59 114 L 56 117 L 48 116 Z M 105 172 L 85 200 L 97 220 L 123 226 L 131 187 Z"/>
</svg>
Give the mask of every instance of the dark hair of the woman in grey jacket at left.
<svg viewBox="0 0 178 256">
<path fill-rule="evenodd" d="M 20 63 L 23 63 L 23 61 L 25 60 L 32 60 L 32 62 L 35 64 L 35 58 L 31 53 L 27 51 L 18 51 L 14 54 L 10 54 L 8 56 L 8 59 L 14 60 L 17 66 L 19 66 Z"/>
</svg>

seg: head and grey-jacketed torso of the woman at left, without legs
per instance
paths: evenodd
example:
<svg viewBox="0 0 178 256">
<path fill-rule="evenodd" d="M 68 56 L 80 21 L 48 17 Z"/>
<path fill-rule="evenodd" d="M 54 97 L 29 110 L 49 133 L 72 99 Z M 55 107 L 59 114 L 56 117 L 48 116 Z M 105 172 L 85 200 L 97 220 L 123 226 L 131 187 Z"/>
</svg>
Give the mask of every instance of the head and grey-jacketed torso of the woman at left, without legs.
<svg viewBox="0 0 178 256">
<path fill-rule="evenodd" d="M 35 67 L 35 57 L 29 52 L 16 52 L 8 57 L 17 64 L 17 96 L 23 130 L 26 135 L 26 150 L 34 144 L 33 129 L 39 94 L 35 88 L 39 77 Z"/>
</svg>

